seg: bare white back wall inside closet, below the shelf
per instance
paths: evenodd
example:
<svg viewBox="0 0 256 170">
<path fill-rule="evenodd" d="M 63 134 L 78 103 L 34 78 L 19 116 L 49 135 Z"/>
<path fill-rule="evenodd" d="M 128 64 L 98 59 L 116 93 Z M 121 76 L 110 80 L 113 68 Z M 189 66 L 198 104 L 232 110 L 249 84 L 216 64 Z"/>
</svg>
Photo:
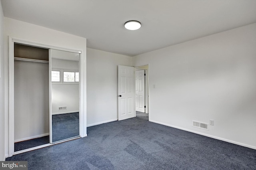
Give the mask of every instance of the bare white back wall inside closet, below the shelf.
<svg viewBox="0 0 256 170">
<path fill-rule="evenodd" d="M 49 134 L 49 64 L 14 61 L 14 141 Z"/>
</svg>

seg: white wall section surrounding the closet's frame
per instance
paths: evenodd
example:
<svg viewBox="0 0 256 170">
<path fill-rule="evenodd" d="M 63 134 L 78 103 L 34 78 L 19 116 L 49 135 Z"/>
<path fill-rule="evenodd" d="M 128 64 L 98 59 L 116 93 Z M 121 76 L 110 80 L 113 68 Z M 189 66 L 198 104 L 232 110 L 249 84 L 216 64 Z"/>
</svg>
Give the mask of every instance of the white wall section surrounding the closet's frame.
<svg viewBox="0 0 256 170">
<path fill-rule="evenodd" d="M 83 50 L 83 65 L 82 70 L 84 83 L 84 113 L 82 113 L 82 121 L 86 125 L 86 38 L 74 36 L 64 32 L 59 32 L 49 28 L 44 28 L 26 22 L 4 18 L 4 91 L 5 91 L 5 153 L 8 154 L 8 36 L 32 40 L 51 44 L 53 46 Z M 2 63 L 1 63 L 2 64 Z M 1 86 L 2 87 L 2 86 Z M 82 129 L 82 136 L 86 135 L 86 126 Z"/>
</svg>

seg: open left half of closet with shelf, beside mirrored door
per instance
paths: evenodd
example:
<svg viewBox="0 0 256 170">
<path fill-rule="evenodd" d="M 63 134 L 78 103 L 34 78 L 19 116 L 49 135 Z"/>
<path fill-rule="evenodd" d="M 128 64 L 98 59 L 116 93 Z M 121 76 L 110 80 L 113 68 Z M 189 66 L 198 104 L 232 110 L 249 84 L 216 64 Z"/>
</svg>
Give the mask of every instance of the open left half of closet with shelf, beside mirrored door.
<svg viewBox="0 0 256 170">
<path fill-rule="evenodd" d="M 49 49 L 14 43 L 14 152 L 50 143 Z"/>
</svg>

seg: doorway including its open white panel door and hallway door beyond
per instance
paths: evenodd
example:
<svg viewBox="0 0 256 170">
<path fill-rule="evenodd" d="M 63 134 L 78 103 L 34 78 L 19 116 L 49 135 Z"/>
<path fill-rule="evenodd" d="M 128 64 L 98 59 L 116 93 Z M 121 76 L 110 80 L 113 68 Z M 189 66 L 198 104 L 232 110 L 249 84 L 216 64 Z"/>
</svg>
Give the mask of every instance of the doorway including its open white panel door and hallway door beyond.
<svg viewBox="0 0 256 170">
<path fill-rule="evenodd" d="M 148 69 L 148 65 L 138 67 L 118 65 L 118 121 L 136 117 L 139 113 L 150 120 Z M 136 79 L 136 71 L 143 79 Z M 143 91 L 143 93 L 136 96 L 136 91 Z M 138 110 L 138 107 L 141 110 Z"/>
</svg>

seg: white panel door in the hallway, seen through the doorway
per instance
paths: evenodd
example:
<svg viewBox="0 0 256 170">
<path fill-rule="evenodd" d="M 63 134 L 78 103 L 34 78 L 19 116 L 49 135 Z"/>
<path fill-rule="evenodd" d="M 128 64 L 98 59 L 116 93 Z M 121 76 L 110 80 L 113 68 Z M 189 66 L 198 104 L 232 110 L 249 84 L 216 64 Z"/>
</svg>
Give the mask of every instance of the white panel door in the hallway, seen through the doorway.
<svg viewBox="0 0 256 170">
<path fill-rule="evenodd" d="M 145 113 L 145 70 L 135 72 L 135 108 Z"/>
</svg>

